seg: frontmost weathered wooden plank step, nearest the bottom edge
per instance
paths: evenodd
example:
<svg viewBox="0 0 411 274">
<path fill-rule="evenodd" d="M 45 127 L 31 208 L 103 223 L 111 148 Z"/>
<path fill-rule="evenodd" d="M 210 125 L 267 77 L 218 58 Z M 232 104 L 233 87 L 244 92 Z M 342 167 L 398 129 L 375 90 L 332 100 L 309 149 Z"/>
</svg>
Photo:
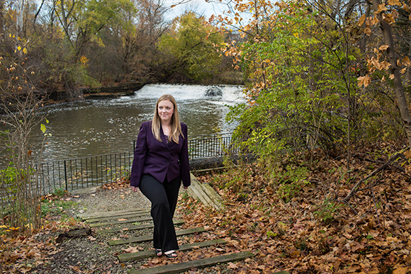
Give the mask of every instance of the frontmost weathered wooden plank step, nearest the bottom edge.
<svg viewBox="0 0 411 274">
<path fill-rule="evenodd" d="M 167 266 L 157 266 L 154 268 L 144 268 L 128 271 L 129 274 L 172 274 L 188 271 L 190 268 L 206 268 L 208 266 L 215 266 L 218 263 L 228 263 L 231 261 L 240 261 L 245 258 L 254 256 L 250 251 L 240 253 L 230 253 L 223 256 L 204 258 L 201 260 L 188 261 L 184 263 L 174 263 Z"/>
</svg>

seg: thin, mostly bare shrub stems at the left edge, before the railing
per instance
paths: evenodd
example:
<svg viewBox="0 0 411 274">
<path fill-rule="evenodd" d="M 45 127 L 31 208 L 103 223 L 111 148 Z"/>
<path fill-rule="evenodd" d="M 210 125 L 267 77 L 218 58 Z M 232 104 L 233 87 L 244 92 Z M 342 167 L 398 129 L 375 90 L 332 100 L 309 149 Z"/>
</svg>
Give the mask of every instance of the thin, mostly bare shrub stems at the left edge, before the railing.
<svg viewBox="0 0 411 274">
<path fill-rule="evenodd" d="M 30 234 L 41 228 L 38 166 L 43 149 L 33 152 L 30 142 L 35 128 L 40 132 L 38 126 L 43 120 L 38 113 L 41 98 L 30 84 L 32 69 L 19 66 L 21 62 L 1 61 L 8 77 L 0 85 L 0 105 L 6 112 L 0 121 L 9 129 L 0 132 L 6 137 L 1 147 L 9 152 L 9 161 L 5 169 L 0 169 L 0 212 L 10 227 Z"/>
</svg>

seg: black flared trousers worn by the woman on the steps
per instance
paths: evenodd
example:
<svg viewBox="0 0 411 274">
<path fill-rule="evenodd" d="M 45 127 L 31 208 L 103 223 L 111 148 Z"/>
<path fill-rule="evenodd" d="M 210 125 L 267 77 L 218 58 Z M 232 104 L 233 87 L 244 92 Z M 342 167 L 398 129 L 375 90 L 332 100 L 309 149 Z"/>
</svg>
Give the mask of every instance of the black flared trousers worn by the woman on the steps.
<svg viewBox="0 0 411 274">
<path fill-rule="evenodd" d="M 151 202 L 151 216 L 154 222 L 154 249 L 161 249 L 163 252 L 179 249 L 173 216 L 180 185 L 180 177 L 171 182 L 167 182 L 166 179 L 160 183 L 150 175 L 143 175 L 140 181 L 142 194 Z"/>
</svg>

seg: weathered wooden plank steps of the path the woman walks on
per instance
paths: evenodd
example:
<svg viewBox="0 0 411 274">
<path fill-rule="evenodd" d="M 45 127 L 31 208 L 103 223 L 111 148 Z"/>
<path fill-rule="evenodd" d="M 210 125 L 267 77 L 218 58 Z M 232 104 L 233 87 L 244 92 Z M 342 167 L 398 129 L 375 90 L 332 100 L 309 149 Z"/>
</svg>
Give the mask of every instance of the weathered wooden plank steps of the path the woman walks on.
<svg viewBox="0 0 411 274">
<path fill-rule="evenodd" d="M 121 210 L 121 211 L 111 211 L 111 212 L 96 212 L 92 214 L 79 215 L 81 219 L 90 224 L 90 227 L 96 227 L 96 233 L 106 234 L 115 232 L 128 232 L 130 230 L 136 229 L 147 229 L 152 228 L 153 224 L 136 224 L 140 222 L 151 221 L 150 212 L 147 210 Z M 115 225 L 122 224 L 123 227 L 113 227 Z M 132 225 L 129 225 L 132 224 Z M 174 224 L 183 224 L 183 221 L 176 220 Z M 101 229 L 100 229 L 101 228 Z M 191 234 L 198 234 L 206 232 L 203 227 L 193 228 L 193 229 L 179 229 L 176 230 L 177 236 L 183 236 Z M 116 239 L 113 241 L 108 241 L 109 246 L 118 245 L 128 245 L 139 244 L 143 241 L 152 241 L 152 234 L 145 236 L 129 237 L 128 239 Z M 194 244 L 182 244 L 179 246 L 180 252 L 188 251 L 191 249 L 201 249 L 207 246 L 224 246 L 226 241 L 223 239 L 215 239 L 212 241 L 201 241 Z M 254 253 L 250 251 L 239 252 L 239 253 L 227 253 L 222 256 L 215 256 L 212 258 L 203 258 L 193 261 L 186 261 L 183 263 L 171 263 L 166 266 L 157 266 L 152 268 L 143 269 L 133 269 L 129 270 L 128 273 L 181 273 L 188 271 L 193 268 L 207 268 L 210 266 L 215 266 L 221 263 L 228 263 L 232 261 L 240 261 L 245 258 L 250 258 L 254 256 Z M 135 253 L 120 253 L 117 255 L 119 262 L 125 261 L 137 261 L 145 258 L 156 257 L 154 249 L 139 251 Z M 278 274 L 288 274 L 286 272 Z"/>
</svg>

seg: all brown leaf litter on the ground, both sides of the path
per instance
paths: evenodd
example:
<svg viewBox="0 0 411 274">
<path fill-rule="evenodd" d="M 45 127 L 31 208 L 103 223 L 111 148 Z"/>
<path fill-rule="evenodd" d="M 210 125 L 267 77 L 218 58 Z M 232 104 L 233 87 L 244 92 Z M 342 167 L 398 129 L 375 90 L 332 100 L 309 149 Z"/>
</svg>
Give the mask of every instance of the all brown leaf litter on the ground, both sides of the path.
<svg viewBox="0 0 411 274">
<path fill-rule="evenodd" d="M 411 273 L 411 167 L 407 154 L 401 161 L 390 164 L 361 183 L 352 198 L 344 200 L 361 178 L 366 178 L 388 161 L 388 156 L 370 157 L 371 154 L 366 149 L 353 153 L 350 170 L 345 159 L 319 157 L 321 160 L 310 169 L 310 184 L 304 185 L 290 200 L 280 198 L 276 185 L 265 181 L 261 175 L 264 171 L 255 164 L 244 165 L 235 171 L 244 176 L 237 185 L 222 187 L 222 182 L 232 181 L 232 172 L 196 174 L 199 181 L 210 183 L 223 197 L 225 209 L 216 211 L 181 195 L 176 213 L 185 224 L 178 229 L 205 227 L 207 232 L 181 236 L 179 244 L 212 239 L 225 239 L 227 244 L 181 251 L 173 260 L 164 257 L 147 259 L 138 267 L 252 251 L 254 257 L 244 261 L 187 273 L 275 273 L 282 270 L 293 274 Z M 130 195 L 127 187 L 127 181 L 116 182 L 103 186 L 103 190 L 112 191 L 114 197 L 119 197 L 116 192 L 121 190 L 120 194 L 127 197 Z M 113 193 L 108 195 L 113 196 Z M 2 233 L 2 270 L 41 273 L 39 270 L 43 266 L 76 243 L 65 241 L 64 246 L 55 243 L 56 232 L 69 229 L 69 225 L 84 224 L 76 221 L 63 225 L 52 219 L 41 232 L 32 236 Z M 106 243 L 94 236 L 81 241 L 100 245 L 101 251 L 94 251 L 96 256 L 107 252 Z M 141 249 L 123 247 L 118 252 L 109 253 L 112 259 L 106 259 L 107 263 L 94 261 L 88 268 L 71 263 L 69 269 L 71 273 L 121 273 L 120 270 L 136 266 L 118 263 L 114 256 Z M 80 251 L 77 250 L 77 258 L 91 256 L 91 253 Z"/>
</svg>

